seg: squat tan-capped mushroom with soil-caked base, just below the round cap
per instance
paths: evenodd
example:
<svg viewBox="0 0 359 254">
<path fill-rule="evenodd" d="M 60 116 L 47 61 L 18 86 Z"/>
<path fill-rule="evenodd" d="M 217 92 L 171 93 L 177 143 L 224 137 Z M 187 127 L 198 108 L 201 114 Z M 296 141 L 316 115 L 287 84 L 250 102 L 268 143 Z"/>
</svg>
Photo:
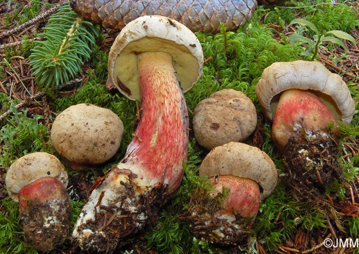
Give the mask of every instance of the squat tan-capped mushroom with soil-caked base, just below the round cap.
<svg viewBox="0 0 359 254">
<path fill-rule="evenodd" d="M 190 230 L 210 242 L 238 244 L 249 234 L 260 200 L 268 197 L 276 186 L 273 161 L 257 147 L 229 142 L 207 154 L 201 163 L 200 175 L 207 175 L 212 182 L 212 197 L 227 188 L 228 199 L 218 208 L 206 208 L 204 202 L 194 198 L 187 218 Z"/>
</svg>

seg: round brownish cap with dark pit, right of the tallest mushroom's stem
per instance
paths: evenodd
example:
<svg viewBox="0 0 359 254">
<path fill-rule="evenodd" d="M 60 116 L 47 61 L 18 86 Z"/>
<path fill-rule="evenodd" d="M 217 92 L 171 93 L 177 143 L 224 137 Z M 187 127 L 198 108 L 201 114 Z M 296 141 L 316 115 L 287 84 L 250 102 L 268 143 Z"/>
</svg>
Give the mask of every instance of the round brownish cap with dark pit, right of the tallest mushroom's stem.
<svg viewBox="0 0 359 254">
<path fill-rule="evenodd" d="M 248 138 L 257 124 L 253 102 L 242 92 L 223 89 L 200 101 L 193 112 L 193 131 L 206 149 Z"/>
</svg>

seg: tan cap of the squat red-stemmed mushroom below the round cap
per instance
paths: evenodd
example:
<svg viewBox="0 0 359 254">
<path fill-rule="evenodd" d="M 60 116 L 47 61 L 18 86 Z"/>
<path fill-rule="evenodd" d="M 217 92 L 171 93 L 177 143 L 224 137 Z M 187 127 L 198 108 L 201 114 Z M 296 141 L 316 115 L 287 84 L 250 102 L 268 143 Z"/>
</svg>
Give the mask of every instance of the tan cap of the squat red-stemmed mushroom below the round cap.
<svg viewBox="0 0 359 254">
<path fill-rule="evenodd" d="M 257 147 L 239 142 L 214 147 L 203 159 L 200 174 L 249 178 L 261 186 L 261 200 L 277 184 L 277 171 L 271 158 Z"/>
</svg>

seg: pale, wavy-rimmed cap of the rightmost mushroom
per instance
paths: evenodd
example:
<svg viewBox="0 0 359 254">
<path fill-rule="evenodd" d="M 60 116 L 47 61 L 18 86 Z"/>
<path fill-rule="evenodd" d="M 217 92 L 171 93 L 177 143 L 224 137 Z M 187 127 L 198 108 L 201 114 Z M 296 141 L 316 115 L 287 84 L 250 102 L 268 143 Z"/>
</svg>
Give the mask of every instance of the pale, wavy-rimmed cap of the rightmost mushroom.
<svg viewBox="0 0 359 254">
<path fill-rule="evenodd" d="M 311 90 L 328 107 L 335 120 L 351 121 L 355 103 L 347 84 L 320 62 L 304 60 L 274 62 L 263 71 L 255 92 L 268 119 L 273 119 L 280 93 L 293 88 Z"/>
</svg>

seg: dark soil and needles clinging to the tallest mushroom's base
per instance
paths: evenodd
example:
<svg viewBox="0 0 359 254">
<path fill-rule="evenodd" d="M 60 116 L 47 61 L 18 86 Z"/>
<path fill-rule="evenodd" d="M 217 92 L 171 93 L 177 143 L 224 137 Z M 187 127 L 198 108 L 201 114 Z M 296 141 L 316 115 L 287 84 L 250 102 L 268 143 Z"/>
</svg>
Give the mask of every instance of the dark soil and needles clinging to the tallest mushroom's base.
<svg viewBox="0 0 359 254">
<path fill-rule="evenodd" d="M 158 209 L 166 202 L 163 198 L 168 198 L 165 194 L 167 184 L 158 182 L 139 194 L 138 188 L 141 187 L 133 181 L 137 176 L 131 173 L 127 175 L 128 181 L 121 181 L 121 195 L 117 195 L 113 205 L 102 205 L 99 198 L 95 221 L 88 221 L 78 227 L 78 231 L 85 229 L 89 232 L 88 237 L 80 241 L 82 248 L 90 252 L 112 253 L 116 247 L 130 243 L 131 238 L 127 239 L 128 236 L 157 223 Z"/>
</svg>

